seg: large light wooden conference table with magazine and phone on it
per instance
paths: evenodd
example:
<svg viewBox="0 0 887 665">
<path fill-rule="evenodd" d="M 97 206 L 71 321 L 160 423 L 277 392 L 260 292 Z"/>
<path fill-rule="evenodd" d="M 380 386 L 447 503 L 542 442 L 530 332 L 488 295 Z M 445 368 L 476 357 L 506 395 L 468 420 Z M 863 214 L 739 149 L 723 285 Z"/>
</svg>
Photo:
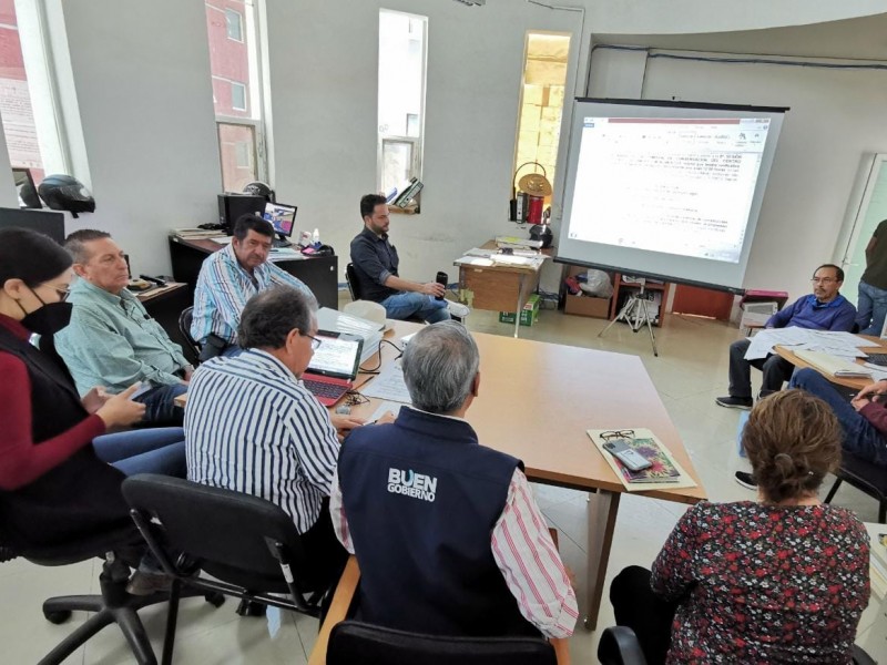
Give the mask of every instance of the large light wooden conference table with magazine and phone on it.
<svg viewBox="0 0 887 665">
<path fill-rule="evenodd" d="M 396 342 L 419 329 L 419 324 L 397 321 L 385 339 Z M 705 499 L 705 490 L 639 357 L 483 332 L 473 332 L 473 338 L 480 349 L 480 395 L 467 420 L 480 442 L 521 459 L 533 482 L 591 492 L 588 582 L 577 596 L 585 626 L 593 630 L 625 490 L 585 430 L 650 429 L 697 483 L 634 494 L 693 504 Z M 381 354 L 383 366 L 398 355 L 388 345 Z M 377 364 L 374 356 L 365 367 Z M 371 379 L 358 376 L 357 389 Z M 354 407 L 351 415 L 368 418 L 378 406 L 371 399 Z"/>
</svg>

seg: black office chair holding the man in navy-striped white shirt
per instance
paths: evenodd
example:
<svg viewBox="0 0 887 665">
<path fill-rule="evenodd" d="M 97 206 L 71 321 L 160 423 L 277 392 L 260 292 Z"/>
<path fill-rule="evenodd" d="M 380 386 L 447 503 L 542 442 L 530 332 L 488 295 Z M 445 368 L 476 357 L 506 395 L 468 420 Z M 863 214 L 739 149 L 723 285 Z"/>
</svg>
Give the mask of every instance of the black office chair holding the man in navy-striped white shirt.
<svg viewBox="0 0 887 665">
<path fill-rule="evenodd" d="M 163 663 L 172 662 L 183 585 L 319 616 L 327 589 L 305 581 L 306 557 L 293 519 L 269 501 L 177 478 L 140 474 L 123 482 L 135 524 L 173 577 Z M 173 555 L 177 552 L 177 555 Z M 200 576 L 203 571 L 214 579 Z M 275 594 L 287 594 L 282 597 Z M 307 597 L 306 597 L 307 596 Z"/>
</svg>

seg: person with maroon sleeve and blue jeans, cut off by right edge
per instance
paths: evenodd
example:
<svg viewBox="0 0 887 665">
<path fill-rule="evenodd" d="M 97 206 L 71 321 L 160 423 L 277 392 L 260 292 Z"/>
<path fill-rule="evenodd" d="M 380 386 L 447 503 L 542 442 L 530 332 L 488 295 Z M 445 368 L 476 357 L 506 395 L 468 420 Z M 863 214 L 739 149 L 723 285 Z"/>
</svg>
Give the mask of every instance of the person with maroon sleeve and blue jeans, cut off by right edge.
<svg viewBox="0 0 887 665">
<path fill-rule="evenodd" d="M 789 388 L 801 388 L 828 402 L 844 430 L 842 448 L 887 469 L 887 379 L 869 383 L 853 400 L 842 396 L 814 369 L 799 369 Z"/>
</svg>

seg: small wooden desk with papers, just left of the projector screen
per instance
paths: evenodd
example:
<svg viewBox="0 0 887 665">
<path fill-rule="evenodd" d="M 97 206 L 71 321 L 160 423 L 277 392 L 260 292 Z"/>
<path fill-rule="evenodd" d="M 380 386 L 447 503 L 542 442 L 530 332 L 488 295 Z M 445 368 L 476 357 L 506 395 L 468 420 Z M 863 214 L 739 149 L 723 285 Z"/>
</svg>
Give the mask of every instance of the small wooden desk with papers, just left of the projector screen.
<svg viewBox="0 0 887 665">
<path fill-rule="evenodd" d="M 483 244 L 481 249 L 496 250 L 495 241 Z M 520 330 L 520 313 L 539 284 L 540 266 L 463 266 L 459 267 L 459 290 L 469 291 L 467 305 L 472 309 L 513 311 L 514 337 Z"/>
</svg>

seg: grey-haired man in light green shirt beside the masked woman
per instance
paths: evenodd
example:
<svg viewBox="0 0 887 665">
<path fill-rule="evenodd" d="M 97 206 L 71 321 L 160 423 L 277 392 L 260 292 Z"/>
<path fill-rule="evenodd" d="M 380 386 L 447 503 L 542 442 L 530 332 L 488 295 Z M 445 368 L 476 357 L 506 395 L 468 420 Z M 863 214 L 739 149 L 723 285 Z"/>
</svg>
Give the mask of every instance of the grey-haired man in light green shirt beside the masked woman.
<svg viewBox="0 0 887 665">
<path fill-rule="evenodd" d="M 174 400 L 187 391 L 194 368 L 126 288 L 123 250 L 110 234 L 92 229 L 72 233 L 64 246 L 79 279 L 69 296 L 71 323 L 54 335 L 54 344 L 78 392 L 93 386 L 120 392 L 142 381 L 147 390 L 134 399 L 147 407 L 144 419 L 182 424 L 184 415 Z"/>
</svg>

